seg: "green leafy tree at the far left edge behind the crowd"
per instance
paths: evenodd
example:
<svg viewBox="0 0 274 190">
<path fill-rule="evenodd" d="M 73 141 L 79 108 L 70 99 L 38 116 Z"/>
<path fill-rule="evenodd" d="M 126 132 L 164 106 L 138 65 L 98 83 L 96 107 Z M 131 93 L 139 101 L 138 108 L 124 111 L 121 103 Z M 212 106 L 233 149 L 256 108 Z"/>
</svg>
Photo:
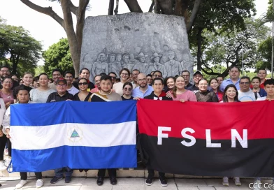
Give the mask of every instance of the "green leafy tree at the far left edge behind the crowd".
<svg viewBox="0 0 274 190">
<path fill-rule="evenodd" d="M 12 73 L 20 74 L 26 69 L 34 71 L 41 58 L 41 50 L 41 43 L 32 38 L 29 31 L 8 25 L 0 19 L 0 57 L 10 57 Z"/>
</svg>

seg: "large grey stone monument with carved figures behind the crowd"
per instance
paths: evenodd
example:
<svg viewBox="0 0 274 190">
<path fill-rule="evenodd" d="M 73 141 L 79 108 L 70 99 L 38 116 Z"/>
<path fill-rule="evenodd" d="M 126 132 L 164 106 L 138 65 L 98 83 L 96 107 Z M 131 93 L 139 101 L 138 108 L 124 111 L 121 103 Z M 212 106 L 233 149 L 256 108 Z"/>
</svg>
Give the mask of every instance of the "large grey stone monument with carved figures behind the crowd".
<svg viewBox="0 0 274 190">
<path fill-rule="evenodd" d="M 119 77 L 122 68 L 159 70 L 164 78 L 188 70 L 192 80 L 193 66 L 184 17 L 127 13 L 85 20 L 80 68 L 89 68 L 91 81 L 100 73 Z"/>
</svg>

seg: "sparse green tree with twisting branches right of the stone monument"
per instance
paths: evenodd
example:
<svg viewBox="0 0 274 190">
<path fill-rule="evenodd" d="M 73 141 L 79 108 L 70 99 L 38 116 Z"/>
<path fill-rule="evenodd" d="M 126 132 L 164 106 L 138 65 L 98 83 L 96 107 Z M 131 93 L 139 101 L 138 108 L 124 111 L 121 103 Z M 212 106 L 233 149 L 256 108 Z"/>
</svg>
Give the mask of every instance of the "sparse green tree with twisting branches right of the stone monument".
<svg viewBox="0 0 274 190">
<path fill-rule="evenodd" d="M 245 30 L 222 32 L 219 36 L 215 32 L 205 31 L 203 36 L 208 39 L 208 45 L 203 52 L 202 70 L 208 75 L 228 75 L 229 66 L 242 68 L 256 68 L 261 60 L 259 44 L 270 35 L 270 29 L 261 26 L 259 20 L 245 20 Z M 262 45 L 261 45 L 262 46 Z M 244 57 L 243 57 L 244 56 Z M 215 72 L 216 66 L 225 66 L 222 73 Z"/>
</svg>

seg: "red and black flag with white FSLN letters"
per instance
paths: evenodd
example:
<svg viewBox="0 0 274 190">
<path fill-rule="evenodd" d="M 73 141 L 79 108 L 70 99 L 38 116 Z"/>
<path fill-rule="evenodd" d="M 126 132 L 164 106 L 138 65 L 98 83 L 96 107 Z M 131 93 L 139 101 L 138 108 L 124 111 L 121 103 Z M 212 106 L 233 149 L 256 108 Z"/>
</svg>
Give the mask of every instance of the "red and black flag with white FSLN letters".
<svg viewBox="0 0 274 190">
<path fill-rule="evenodd" d="M 137 109 L 147 168 L 199 176 L 274 175 L 274 101 L 140 100 Z"/>
</svg>

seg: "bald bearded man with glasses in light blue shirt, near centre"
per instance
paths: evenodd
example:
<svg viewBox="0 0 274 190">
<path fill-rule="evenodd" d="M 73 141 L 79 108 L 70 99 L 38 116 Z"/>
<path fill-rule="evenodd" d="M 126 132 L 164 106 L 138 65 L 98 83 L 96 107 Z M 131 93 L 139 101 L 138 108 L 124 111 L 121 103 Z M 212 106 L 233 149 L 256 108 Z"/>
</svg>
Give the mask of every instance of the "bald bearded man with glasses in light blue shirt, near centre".
<svg viewBox="0 0 274 190">
<path fill-rule="evenodd" d="M 144 73 L 140 73 L 137 77 L 138 87 L 132 92 L 134 98 L 144 98 L 152 93 L 153 88 L 150 85 L 147 85 L 147 78 Z"/>
</svg>

